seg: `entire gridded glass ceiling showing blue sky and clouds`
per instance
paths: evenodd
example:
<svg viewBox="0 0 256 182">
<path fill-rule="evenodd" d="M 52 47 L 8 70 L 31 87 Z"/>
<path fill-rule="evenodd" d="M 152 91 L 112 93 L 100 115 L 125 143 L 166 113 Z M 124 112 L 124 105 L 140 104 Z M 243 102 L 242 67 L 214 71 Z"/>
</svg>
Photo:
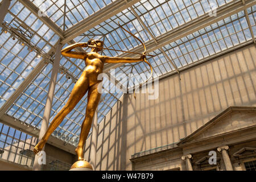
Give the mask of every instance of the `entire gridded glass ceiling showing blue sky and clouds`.
<svg viewBox="0 0 256 182">
<path fill-rule="evenodd" d="M 0 2 L 2 1 L 0 0 Z M 63 2 L 60 0 L 31 1 L 32 5 L 45 11 L 48 18 L 64 31 L 81 22 L 81 20 L 101 11 L 101 9 L 111 5 L 114 1 L 67 0 L 65 1 L 66 5 Z M 140 47 L 141 43 L 124 32 L 118 26 L 118 21 L 126 30 L 130 30 L 144 43 L 148 43 L 209 13 L 211 10 L 209 3 L 214 3 L 215 7 L 221 7 L 230 2 L 232 0 L 142 0 L 112 18 L 90 28 L 90 30 L 77 36 L 74 40 L 75 42 L 87 42 L 90 38 L 96 38 L 104 40 L 107 48 L 133 51 L 134 48 Z M 143 27 L 133 10 L 146 27 Z M 256 6 L 248 8 L 247 12 L 255 37 Z M 60 38 L 51 30 L 51 27 L 44 24 L 36 15 L 32 14 L 22 3 L 16 0 L 11 1 L 5 22 L 0 29 L 0 107 L 8 102 L 15 90 L 19 88 L 20 84 L 30 75 L 40 61 L 48 60 L 43 69 L 26 86 L 26 89 L 23 90 L 13 105 L 6 110 L 7 115 L 40 129 L 51 78 L 52 60 L 54 60 L 54 55 L 49 56 L 47 53 Z M 18 33 L 15 34 L 15 32 Z M 244 11 L 240 11 L 193 32 L 193 34 L 167 44 L 162 49 L 167 53 L 172 63 L 180 69 L 246 42 L 252 42 L 252 37 L 246 15 Z M 164 56 L 162 49 L 156 48 L 154 51 L 148 52 L 156 55 L 155 57 L 148 57 L 148 61 L 154 68 L 155 76 L 164 76 L 167 73 L 176 71 L 171 62 Z M 104 50 L 102 55 L 123 56 L 123 53 Z M 50 122 L 67 102 L 76 80 L 84 69 L 84 61 L 61 57 Z M 129 76 L 129 73 L 139 75 L 141 73 L 150 73 L 150 69 L 143 62 L 124 64 L 115 68 L 115 73 L 125 73 L 127 76 Z M 127 85 L 127 88 L 134 86 L 127 80 L 122 80 L 118 77 L 116 79 L 122 85 Z M 135 84 L 139 84 L 145 79 L 144 77 L 135 78 Z M 114 89 L 115 85 L 110 84 L 110 88 Z M 98 105 L 98 123 L 105 118 L 122 95 L 121 90 L 117 90 L 115 93 L 102 94 Z M 80 135 L 80 126 L 85 117 L 86 103 L 87 94 L 75 109 L 65 117 L 52 135 L 76 146 Z"/>
</svg>

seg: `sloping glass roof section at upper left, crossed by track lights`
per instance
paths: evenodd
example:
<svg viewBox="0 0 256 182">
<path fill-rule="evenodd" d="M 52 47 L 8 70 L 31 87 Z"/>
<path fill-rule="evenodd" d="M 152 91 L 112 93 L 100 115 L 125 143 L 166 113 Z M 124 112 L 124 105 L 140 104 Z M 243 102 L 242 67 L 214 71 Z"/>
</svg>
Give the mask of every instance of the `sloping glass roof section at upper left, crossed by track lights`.
<svg viewBox="0 0 256 182">
<path fill-rule="evenodd" d="M 58 39 L 47 26 L 43 25 L 39 19 L 17 1 L 11 3 L 10 10 L 5 16 L 5 22 L 5 27 L 2 27 L 0 34 L 2 48 L 0 61 L 1 106 L 42 60 L 42 57 L 37 57 L 38 52 L 35 52 L 31 47 L 36 46 L 43 52 L 48 52 Z M 27 22 L 30 22 L 28 23 L 29 26 L 25 26 Z M 6 34 L 3 32 L 3 28 L 8 29 Z M 15 28 L 18 33 L 11 31 L 13 30 L 11 28 Z M 25 40 L 32 44 L 25 44 Z"/>
</svg>

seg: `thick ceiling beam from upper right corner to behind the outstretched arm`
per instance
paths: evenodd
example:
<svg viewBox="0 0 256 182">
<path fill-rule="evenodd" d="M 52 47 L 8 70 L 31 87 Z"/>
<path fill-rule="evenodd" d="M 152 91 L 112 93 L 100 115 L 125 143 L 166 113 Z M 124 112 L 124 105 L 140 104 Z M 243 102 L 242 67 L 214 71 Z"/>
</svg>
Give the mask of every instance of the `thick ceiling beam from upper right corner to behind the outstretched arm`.
<svg viewBox="0 0 256 182">
<path fill-rule="evenodd" d="M 170 44 L 172 42 L 175 42 L 176 40 L 183 38 L 184 36 L 187 36 L 189 34 L 192 34 L 193 32 L 199 31 L 202 28 L 205 28 L 222 19 L 228 18 L 229 16 L 236 14 L 240 11 L 243 11 L 248 7 L 251 7 L 254 5 L 256 5 L 256 1 L 254 0 L 247 0 L 245 4 L 243 4 L 241 0 L 229 2 L 226 5 L 217 8 L 217 16 L 209 16 L 209 14 L 204 14 L 198 18 L 191 20 L 188 23 L 183 24 L 182 26 L 174 28 L 173 30 L 168 31 L 165 34 L 156 37 L 155 40 L 152 39 L 146 42 L 145 46 L 147 48 L 147 52 L 150 53 L 152 51 L 155 51 L 156 49 L 160 49 L 166 46 L 167 44 Z M 156 42 L 158 44 L 156 44 Z M 143 52 L 144 48 L 142 46 L 138 46 L 129 51 Z M 119 55 L 119 57 L 135 57 L 135 56 L 137 55 L 132 53 L 123 53 Z M 105 64 L 104 71 L 108 72 L 110 71 L 110 69 L 120 67 L 121 65 L 123 65 L 123 63 Z"/>
</svg>

